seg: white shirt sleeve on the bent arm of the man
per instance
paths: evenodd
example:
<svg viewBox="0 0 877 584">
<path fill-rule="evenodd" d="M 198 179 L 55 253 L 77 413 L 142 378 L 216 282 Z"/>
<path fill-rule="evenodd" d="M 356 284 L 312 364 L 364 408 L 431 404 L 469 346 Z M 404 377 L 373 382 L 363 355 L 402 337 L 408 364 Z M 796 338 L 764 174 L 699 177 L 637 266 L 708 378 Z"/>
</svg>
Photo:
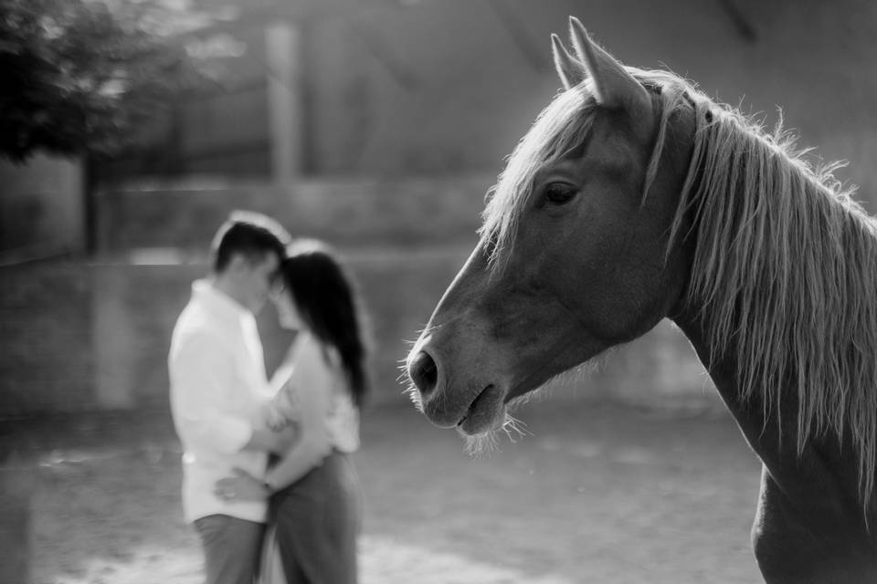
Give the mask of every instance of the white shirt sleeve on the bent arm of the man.
<svg viewBox="0 0 877 584">
<path fill-rule="evenodd" d="M 234 415 L 240 388 L 234 355 L 219 339 L 193 335 L 183 339 L 170 360 L 171 406 L 180 437 L 222 454 L 239 452 L 252 436 L 248 420 Z"/>
</svg>

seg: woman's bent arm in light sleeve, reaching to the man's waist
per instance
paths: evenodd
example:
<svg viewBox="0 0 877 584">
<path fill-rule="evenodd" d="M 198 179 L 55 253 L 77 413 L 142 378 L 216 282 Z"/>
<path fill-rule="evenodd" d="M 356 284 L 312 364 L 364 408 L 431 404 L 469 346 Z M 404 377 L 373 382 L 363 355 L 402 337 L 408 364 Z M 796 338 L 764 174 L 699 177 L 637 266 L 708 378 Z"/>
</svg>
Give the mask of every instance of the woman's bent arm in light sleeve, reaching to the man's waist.
<svg viewBox="0 0 877 584">
<path fill-rule="evenodd" d="M 291 485 L 332 454 L 326 416 L 332 407 L 335 377 L 320 342 L 305 334 L 293 357 L 291 388 L 286 390 L 296 391 L 300 439 L 266 474 L 265 484 L 271 491 Z"/>
</svg>

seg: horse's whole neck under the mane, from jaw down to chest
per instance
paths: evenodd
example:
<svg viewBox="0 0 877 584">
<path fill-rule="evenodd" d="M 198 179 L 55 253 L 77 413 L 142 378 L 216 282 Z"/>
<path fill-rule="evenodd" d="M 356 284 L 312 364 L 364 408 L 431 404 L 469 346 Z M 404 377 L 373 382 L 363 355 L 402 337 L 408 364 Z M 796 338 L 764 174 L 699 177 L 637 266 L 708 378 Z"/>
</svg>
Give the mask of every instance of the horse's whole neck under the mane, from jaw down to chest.
<svg viewBox="0 0 877 584">
<path fill-rule="evenodd" d="M 692 263 L 671 319 L 787 493 L 809 500 L 825 493 L 801 485 L 831 485 L 877 520 L 874 226 L 783 148 L 748 133 L 727 141 L 732 131 L 744 130 L 717 123 L 695 141 L 674 224 L 692 234 L 678 242 Z M 704 156 L 734 167 L 711 159 L 704 170 Z"/>
</svg>

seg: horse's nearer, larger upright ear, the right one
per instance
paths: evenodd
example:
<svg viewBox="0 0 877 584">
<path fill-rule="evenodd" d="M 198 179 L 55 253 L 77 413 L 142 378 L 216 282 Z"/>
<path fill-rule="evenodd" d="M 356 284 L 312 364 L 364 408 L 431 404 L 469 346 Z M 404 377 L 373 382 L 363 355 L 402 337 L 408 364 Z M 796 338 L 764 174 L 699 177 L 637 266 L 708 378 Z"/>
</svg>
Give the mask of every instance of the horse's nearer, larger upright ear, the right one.
<svg viewBox="0 0 877 584">
<path fill-rule="evenodd" d="M 651 110 L 646 89 L 623 65 L 591 40 L 585 26 L 575 16 L 569 17 L 569 29 L 576 55 L 594 83 L 594 97 L 598 104 L 605 108 L 639 111 L 645 107 Z"/>
</svg>

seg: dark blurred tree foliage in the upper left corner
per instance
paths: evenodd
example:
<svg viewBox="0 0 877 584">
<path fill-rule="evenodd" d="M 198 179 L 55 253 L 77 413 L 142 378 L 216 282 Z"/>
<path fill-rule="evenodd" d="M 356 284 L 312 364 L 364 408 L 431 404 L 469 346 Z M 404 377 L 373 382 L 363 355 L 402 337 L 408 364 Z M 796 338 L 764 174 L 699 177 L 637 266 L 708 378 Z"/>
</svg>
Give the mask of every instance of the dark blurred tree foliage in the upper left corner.
<svg viewBox="0 0 877 584">
<path fill-rule="evenodd" d="M 174 42 L 194 16 L 163 0 L 0 0 L 0 157 L 136 143 L 205 80 Z"/>
</svg>

